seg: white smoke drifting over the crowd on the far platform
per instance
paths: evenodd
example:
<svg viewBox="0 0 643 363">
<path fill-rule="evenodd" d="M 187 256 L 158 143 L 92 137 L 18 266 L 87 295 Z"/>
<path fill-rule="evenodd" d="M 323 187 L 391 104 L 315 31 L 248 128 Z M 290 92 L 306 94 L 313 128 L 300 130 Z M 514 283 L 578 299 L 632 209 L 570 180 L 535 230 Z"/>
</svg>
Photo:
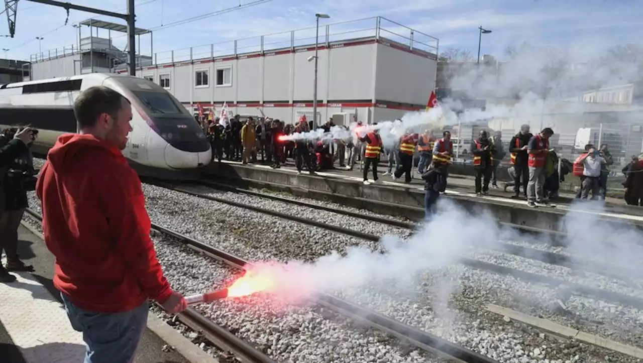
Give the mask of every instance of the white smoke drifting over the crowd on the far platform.
<svg viewBox="0 0 643 363">
<path fill-rule="evenodd" d="M 508 53 L 511 58 L 498 64 L 476 67 L 470 63 L 446 71 L 450 78 L 449 86 L 458 90 L 458 96 L 443 98 L 439 107 L 428 112 L 407 112 L 399 120 L 380 121 L 375 126 L 359 128 L 359 131 L 379 129 L 386 147 L 394 145 L 406 130 L 439 130 L 449 125 L 484 124 L 495 119 L 516 120 L 512 124 L 516 131 L 522 123 L 528 123 L 536 132 L 544 127 L 553 127 L 557 132 L 557 129 L 563 130 L 568 126 L 566 115 L 582 115 L 601 108 L 609 110 L 604 103 L 581 102 L 583 93 L 630 83 L 643 85 L 643 43 L 607 51 L 604 46 L 592 47 L 584 42 L 566 48 L 523 43 L 509 49 Z M 478 99 L 487 100 L 484 109 L 467 102 Z M 631 116 L 605 117 L 603 122 L 618 123 L 614 117 Z M 575 133 L 579 127 L 590 126 L 570 123 L 569 127 L 575 128 L 568 132 Z M 349 130 L 333 127 L 330 132 L 323 132 L 323 129 L 318 129 L 285 139 L 331 141 L 352 138 L 356 141 L 356 133 L 350 132 L 355 127 L 356 124 L 352 123 Z M 439 136 L 440 133 L 436 134 Z"/>
</svg>

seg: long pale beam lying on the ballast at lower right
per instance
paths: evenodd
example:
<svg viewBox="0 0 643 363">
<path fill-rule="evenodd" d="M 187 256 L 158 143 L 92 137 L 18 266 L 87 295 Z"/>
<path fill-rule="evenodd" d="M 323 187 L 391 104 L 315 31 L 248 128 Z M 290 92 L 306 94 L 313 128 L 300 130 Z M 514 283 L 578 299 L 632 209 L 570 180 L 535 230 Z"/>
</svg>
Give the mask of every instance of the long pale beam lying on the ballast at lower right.
<svg viewBox="0 0 643 363">
<path fill-rule="evenodd" d="M 575 339 L 587 344 L 592 344 L 593 346 L 598 346 L 608 350 L 617 351 L 631 357 L 643 359 L 643 350 L 635 346 L 628 346 L 619 342 L 610 341 L 609 339 L 605 339 L 597 335 L 582 332 L 581 330 L 570 328 L 569 326 L 557 324 L 548 319 L 543 319 L 540 317 L 517 312 L 516 310 L 505 308 L 504 306 L 487 304 L 486 310 L 494 314 L 509 317 L 510 319 L 513 319 L 515 321 L 520 321 L 520 323 L 546 330 L 547 332 L 554 333 L 561 337 Z"/>
</svg>

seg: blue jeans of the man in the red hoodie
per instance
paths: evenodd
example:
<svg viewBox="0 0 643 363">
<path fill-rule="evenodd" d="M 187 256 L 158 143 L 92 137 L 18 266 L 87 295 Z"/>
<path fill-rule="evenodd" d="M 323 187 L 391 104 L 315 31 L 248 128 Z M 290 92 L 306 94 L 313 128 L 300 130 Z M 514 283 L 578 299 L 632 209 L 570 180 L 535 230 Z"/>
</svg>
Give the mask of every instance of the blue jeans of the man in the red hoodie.
<svg viewBox="0 0 643 363">
<path fill-rule="evenodd" d="M 147 326 L 149 303 L 122 313 L 96 313 L 73 305 L 60 293 L 72 328 L 87 344 L 84 363 L 132 363 Z"/>
</svg>

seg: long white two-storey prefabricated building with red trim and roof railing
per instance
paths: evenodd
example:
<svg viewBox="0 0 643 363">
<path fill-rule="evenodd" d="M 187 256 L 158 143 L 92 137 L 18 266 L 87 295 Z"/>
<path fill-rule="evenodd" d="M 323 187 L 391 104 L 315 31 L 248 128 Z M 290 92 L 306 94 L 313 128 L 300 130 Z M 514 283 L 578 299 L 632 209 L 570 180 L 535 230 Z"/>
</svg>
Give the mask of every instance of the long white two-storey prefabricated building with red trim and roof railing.
<svg viewBox="0 0 643 363">
<path fill-rule="evenodd" d="M 361 24 L 359 24 L 361 23 Z M 395 28 L 395 33 L 386 31 Z M 352 31 L 347 29 L 369 29 Z M 402 29 L 402 30 L 400 30 Z M 312 118 L 315 28 L 210 44 L 183 51 L 156 53 L 149 64 L 137 64 L 136 75 L 174 94 L 186 108 L 197 105 L 215 113 L 224 103 L 241 115 L 260 115 L 288 122 Z M 393 35 L 406 32 L 408 37 Z M 306 33 L 306 34 L 303 34 Z M 274 42 L 269 37 L 278 37 Z M 435 88 L 438 40 L 383 17 L 320 27 L 318 43 L 318 121 L 333 114 L 354 114 L 364 122 L 394 120 L 426 107 Z M 98 53 L 98 52 L 96 52 Z M 33 64 L 33 79 L 73 75 L 52 74 L 51 62 Z M 70 60 L 66 62 L 71 65 Z M 100 71 L 127 73 L 125 65 Z M 81 69 L 86 73 L 87 69 Z M 96 72 L 96 68 L 94 69 Z"/>
</svg>

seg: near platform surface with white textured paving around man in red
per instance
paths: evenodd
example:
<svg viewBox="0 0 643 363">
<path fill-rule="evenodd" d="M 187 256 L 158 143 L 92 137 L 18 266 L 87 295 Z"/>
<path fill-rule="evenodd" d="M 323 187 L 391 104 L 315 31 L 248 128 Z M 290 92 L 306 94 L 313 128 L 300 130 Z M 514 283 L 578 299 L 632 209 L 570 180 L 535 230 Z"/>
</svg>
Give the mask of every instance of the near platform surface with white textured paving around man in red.
<svg viewBox="0 0 643 363">
<path fill-rule="evenodd" d="M 53 287 L 53 256 L 38 236 L 19 227 L 19 255 L 35 272 L 12 272 L 14 283 L 0 283 L 0 362 L 82 363 L 82 333 L 71 328 Z M 136 363 L 188 363 L 149 329 L 138 348 Z"/>
</svg>

